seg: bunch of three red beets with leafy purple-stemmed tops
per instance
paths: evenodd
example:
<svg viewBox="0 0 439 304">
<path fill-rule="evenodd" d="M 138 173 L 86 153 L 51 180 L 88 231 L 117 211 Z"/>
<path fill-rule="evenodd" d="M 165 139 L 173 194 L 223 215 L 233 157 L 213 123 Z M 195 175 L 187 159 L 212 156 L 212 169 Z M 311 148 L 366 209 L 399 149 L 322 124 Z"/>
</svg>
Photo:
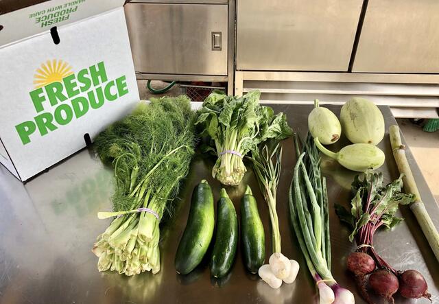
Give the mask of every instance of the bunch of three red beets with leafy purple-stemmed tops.
<svg viewBox="0 0 439 304">
<path fill-rule="evenodd" d="M 388 185 L 383 185 L 383 174 L 368 170 L 364 178 L 355 176 L 352 183 L 351 210 L 336 204 L 335 211 L 342 222 L 350 226 L 351 242 L 355 239 L 357 250 L 347 259 L 347 268 L 353 274 L 361 295 L 370 301 L 367 288 L 394 303 L 393 295 L 399 292 L 409 299 L 430 299 L 427 282 L 416 270 L 397 271 L 379 256 L 373 244 L 378 229 L 392 229 L 403 219 L 395 216 L 400 204 L 410 204 L 412 194 L 401 192 L 402 175 Z"/>
</svg>

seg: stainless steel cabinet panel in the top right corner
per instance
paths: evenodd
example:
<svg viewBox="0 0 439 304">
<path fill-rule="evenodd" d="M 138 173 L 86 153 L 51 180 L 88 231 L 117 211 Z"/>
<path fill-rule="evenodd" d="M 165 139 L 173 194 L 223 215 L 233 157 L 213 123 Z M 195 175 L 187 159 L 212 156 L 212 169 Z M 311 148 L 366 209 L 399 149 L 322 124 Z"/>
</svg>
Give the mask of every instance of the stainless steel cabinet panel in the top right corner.
<svg viewBox="0 0 439 304">
<path fill-rule="evenodd" d="M 353 71 L 439 72 L 439 1 L 369 0 Z"/>
</svg>

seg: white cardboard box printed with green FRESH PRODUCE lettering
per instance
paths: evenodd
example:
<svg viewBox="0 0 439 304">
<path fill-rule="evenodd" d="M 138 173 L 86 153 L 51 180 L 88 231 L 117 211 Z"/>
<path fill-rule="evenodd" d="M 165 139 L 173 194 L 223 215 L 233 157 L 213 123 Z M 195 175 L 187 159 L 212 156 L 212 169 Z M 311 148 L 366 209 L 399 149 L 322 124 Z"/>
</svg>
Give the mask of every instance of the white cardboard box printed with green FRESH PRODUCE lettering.
<svg viewBox="0 0 439 304">
<path fill-rule="evenodd" d="M 27 180 L 139 101 L 121 0 L 51 0 L 0 16 L 0 163 Z"/>
</svg>

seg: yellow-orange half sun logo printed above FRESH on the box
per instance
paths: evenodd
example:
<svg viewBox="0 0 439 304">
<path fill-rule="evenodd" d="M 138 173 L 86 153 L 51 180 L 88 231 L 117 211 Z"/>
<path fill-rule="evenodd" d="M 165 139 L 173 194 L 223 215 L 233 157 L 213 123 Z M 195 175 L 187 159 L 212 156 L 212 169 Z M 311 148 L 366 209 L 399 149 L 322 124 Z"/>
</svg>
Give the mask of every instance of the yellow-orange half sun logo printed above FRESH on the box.
<svg viewBox="0 0 439 304">
<path fill-rule="evenodd" d="M 62 60 L 47 60 L 41 67 L 36 69 L 34 74 L 35 89 L 38 89 L 52 82 L 62 82 L 62 78 L 73 74 L 71 66 Z"/>
</svg>

